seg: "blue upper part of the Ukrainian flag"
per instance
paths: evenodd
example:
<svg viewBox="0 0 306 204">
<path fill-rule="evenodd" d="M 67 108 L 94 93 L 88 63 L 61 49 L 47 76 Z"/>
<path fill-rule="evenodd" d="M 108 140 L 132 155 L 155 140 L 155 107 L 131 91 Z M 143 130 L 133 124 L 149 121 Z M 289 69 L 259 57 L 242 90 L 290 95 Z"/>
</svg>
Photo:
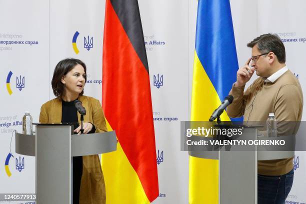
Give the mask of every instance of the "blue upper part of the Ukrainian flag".
<svg viewBox="0 0 306 204">
<path fill-rule="evenodd" d="M 195 50 L 222 101 L 238 69 L 229 0 L 198 0 Z"/>
</svg>

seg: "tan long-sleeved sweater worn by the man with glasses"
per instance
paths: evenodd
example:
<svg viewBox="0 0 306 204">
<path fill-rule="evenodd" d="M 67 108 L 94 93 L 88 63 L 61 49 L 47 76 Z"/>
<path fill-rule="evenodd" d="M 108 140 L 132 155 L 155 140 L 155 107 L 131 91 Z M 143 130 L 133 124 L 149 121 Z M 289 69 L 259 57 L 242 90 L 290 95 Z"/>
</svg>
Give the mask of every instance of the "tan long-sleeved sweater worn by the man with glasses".
<svg viewBox="0 0 306 204">
<path fill-rule="evenodd" d="M 243 87 L 232 86 L 229 94 L 234 97 L 226 112 L 230 117 L 244 116 L 244 121 L 265 122 L 274 112 L 276 121 L 300 121 L 303 95 L 300 84 L 290 70 L 273 83 L 257 78 L 244 92 Z M 277 129 L 278 132 L 278 129 Z M 258 174 L 282 175 L 293 168 L 293 157 L 258 161 Z"/>
</svg>

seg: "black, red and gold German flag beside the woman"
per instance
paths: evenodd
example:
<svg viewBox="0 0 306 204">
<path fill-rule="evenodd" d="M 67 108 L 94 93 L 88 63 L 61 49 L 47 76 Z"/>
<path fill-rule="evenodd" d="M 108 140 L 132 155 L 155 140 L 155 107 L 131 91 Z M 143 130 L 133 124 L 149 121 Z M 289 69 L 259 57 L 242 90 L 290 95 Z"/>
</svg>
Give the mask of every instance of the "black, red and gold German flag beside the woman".
<svg viewBox="0 0 306 204">
<path fill-rule="evenodd" d="M 158 177 L 147 57 L 137 0 L 106 0 L 102 106 L 117 150 L 102 155 L 106 203 L 149 203 Z"/>
</svg>

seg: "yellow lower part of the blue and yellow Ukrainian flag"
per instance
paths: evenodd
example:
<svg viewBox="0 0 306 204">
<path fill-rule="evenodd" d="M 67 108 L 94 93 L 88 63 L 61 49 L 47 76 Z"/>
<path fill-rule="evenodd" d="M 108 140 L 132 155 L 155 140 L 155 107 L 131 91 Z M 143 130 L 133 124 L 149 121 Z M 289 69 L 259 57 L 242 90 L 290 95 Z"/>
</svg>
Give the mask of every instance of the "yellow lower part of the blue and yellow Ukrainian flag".
<svg viewBox="0 0 306 204">
<path fill-rule="evenodd" d="M 210 114 L 220 103 L 219 96 L 195 51 L 191 120 L 208 121 Z M 230 119 L 223 113 L 221 120 Z M 218 160 L 189 156 L 189 203 L 218 203 Z"/>
</svg>

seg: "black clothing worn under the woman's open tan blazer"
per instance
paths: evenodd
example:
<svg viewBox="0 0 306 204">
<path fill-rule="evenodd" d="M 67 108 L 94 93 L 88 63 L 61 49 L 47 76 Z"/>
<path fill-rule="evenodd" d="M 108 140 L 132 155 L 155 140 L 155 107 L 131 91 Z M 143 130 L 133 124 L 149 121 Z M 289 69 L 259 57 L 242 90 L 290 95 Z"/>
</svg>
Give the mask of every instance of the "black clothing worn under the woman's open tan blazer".
<svg viewBox="0 0 306 204">
<path fill-rule="evenodd" d="M 74 101 L 63 101 L 61 109 L 61 122 L 62 123 L 74 123 L 73 130 L 78 127 L 77 110 L 74 106 Z M 92 129 L 88 133 L 94 133 L 95 126 L 92 124 Z M 74 132 L 74 134 L 77 134 Z M 79 203 L 79 189 L 80 181 L 83 171 L 83 159 L 82 156 L 73 156 L 73 204 Z"/>
</svg>

